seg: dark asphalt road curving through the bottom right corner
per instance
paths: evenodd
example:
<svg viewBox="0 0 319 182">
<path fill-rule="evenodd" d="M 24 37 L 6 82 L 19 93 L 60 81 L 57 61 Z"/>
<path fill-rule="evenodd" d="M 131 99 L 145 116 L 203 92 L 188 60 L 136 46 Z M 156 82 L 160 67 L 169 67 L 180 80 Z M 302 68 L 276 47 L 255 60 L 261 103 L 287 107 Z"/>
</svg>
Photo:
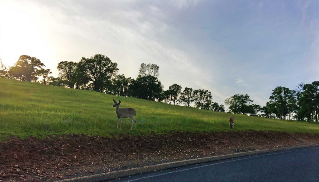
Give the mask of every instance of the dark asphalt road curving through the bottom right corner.
<svg viewBox="0 0 319 182">
<path fill-rule="evenodd" d="M 319 181 L 319 148 L 233 158 L 109 181 Z"/>
</svg>

